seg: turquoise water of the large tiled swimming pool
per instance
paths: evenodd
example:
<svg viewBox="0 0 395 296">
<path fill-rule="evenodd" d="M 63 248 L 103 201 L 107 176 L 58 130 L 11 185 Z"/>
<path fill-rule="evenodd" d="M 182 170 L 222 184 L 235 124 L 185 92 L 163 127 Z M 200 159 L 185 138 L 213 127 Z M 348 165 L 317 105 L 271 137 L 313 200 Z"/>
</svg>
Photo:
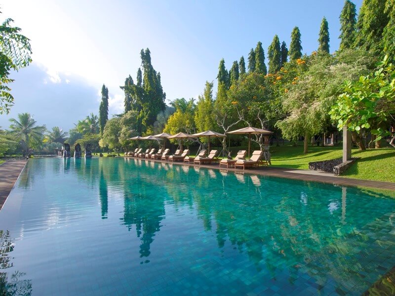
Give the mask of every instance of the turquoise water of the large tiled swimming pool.
<svg viewBox="0 0 395 296">
<path fill-rule="evenodd" d="M 357 188 L 31 159 L 0 211 L 0 292 L 360 295 L 395 265 L 394 217 Z"/>
</svg>

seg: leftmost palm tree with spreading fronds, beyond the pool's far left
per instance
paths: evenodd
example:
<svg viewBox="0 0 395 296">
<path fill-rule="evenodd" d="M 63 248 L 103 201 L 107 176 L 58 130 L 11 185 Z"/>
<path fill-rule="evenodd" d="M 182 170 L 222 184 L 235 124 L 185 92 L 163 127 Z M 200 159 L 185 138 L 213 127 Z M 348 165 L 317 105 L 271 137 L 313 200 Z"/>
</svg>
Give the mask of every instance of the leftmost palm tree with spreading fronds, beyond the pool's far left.
<svg viewBox="0 0 395 296">
<path fill-rule="evenodd" d="M 29 144 L 32 140 L 36 142 L 42 141 L 42 137 L 46 128 L 45 125 L 36 125 L 36 120 L 34 120 L 32 115 L 29 113 L 18 114 L 18 119 L 19 121 L 15 118 L 11 118 L 9 121 L 11 121 L 12 124 L 9 126 L 9 128 L 15 136 L 19 136 L 24 139 L 26 150 L 28 152 Z"/>
</svg>

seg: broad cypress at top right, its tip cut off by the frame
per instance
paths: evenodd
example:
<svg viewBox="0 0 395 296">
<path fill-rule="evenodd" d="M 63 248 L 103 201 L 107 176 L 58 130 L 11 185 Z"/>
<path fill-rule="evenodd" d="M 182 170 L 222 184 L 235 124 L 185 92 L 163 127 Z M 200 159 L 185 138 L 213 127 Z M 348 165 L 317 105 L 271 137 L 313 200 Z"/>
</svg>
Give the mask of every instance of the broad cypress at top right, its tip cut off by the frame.
<svg viewBox="0 0 395 296">
<path fill-rule="evenodd" d="M 373 51 L 381 49 L 384 28 L 389 21 L 385 9 L 386 1 L 364 0 L 362 2 L 356 23 L 356 46 Z"/>
</svg>

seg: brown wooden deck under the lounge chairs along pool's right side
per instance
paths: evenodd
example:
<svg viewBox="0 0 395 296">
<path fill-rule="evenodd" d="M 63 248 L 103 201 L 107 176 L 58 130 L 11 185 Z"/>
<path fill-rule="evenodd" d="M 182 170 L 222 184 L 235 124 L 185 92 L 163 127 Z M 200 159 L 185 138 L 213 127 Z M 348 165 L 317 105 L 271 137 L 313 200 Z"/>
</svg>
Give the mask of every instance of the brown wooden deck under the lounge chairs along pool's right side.
<svg viewBox="0 0 395 296">
<path fill-rule="evenodd" d="M 121 156 L 125 158 L 135 158 L 135 157 L 127 157 Z M 147 161 L 147 159 L 139 158 L 142 160 Z M 156 161 L 156 162 L 163 162 L 161 160 L 149 160 L 149 161 Z M 166 161 L 166 163 L 169 163 Z M 170 165 L 174 163 L 175 165 L 189 165 L 195 166 L 193 163 L 183 163 L 183 162 L 170 162 Z M 312 182 L 321 182 L 321 183 L 328 183 L 334 185 L 344 185 L 344 186 L 354 186 L 354 187 L 370 187 L 370 188 L 377 188 L 377 189 L 385 189 L 385 190 L 395 190 L 395 183 L 392 182 L 381 182 L 381 181 L 370 181 L 370 180 L 359 180 L 359 179 L 351 179 L 351 178 L 342 178 L 336 177 L 330 173 L 324 172 L 317 172 L 317 171 L 310 171 L 310 170 L 298 170 L 298 169 L 289 169 L 289 168 L 279 168 L 279 167 L 271 167 L 271 166 L 260 166 L 259 168 L 253 169 L 236 169 L 235 168 L 226 168 L 226 167 L 219 167 L 218 162 L 213 164 L 202 164 L 196 165 L 202 168 L 209 168 L 209 169 L 217 169 L 221 171 L 229 171 L 235 173 L 245 173 L 245 174 L 254 174 L 254 175 L 261 175 L 261 176 L 272 176 L 278 178 L 287 178 L 287 179 L 294 179 L 294 180 L 302 180 L 302 181 L 312 181 Z"/>
</svg>

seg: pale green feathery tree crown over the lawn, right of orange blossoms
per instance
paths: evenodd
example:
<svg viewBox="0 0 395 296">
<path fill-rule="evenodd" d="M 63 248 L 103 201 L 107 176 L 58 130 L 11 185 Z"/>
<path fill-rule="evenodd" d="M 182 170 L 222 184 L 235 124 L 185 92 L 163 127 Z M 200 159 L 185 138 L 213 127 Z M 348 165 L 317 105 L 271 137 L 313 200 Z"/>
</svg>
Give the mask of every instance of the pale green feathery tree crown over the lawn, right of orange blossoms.
<svg viewBox="0 0 395 296">
<path fill-rule="evenodd" d="M 287 90 L 283 108 L 288 115 L 277 122 L 282 135 L 295 141 L 327 131 L 332 126 L 328 112 L 341 92 L 339 85 L 367 73 L 372 60 L 364 51 L 345 50 L 336 56 L 312 55 L 290 63 L 286 71 L 296 76 L 283 85 Z"/>
</svg>

